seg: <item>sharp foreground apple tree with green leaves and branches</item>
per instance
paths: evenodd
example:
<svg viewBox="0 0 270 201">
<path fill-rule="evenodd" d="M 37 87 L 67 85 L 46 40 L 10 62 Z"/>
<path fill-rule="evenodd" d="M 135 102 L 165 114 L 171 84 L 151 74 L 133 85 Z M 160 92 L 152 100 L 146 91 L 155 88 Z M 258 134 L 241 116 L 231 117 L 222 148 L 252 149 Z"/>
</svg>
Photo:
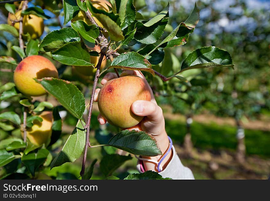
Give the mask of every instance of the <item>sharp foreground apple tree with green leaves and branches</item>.
<svg viewBox="0 0 270 201">
<path fill-rule="evenodd" d="M 170 83 L 167 86 L 177 87 L 177 84 L 174 85 L 177 82 L 192 91 L 195 90 L 191 87 L 192 80 L 183 76 L 187 70 L 233 67 L 230 54 L 214 46 L 193 50 L 178 69 L 173 68 L 170 58 L 165 57 L 166 51 L 188 42 L 189 35 L 199 22 L 196 4 L 186 20 L 175 24 L 169 19 L 169 3 L 154 16 L 140 13 L 142 8 L 149 9 L 144 1 L 36 0 L 0 3 L 5 3 L 4 8 L 1 7 L 2 14 L 8 19 L 7 23 L 0 24 L 3 41 L 0 57 L 3 64 L 0 71 L 0 166 L 6 172 L 5 178 L 38 178 L 44 167 L 52 169 L 75 162 L 83 154 L 80 176 L 90 179 L 96 160 L 86 167 L 87 152 L 93 153 L 95 147 L 114 147 L 135 155 L 162 154 L 155 140 L 143 131 L 126 129 L 109 135 L 110 139 L 103 140 L 101 144 L 90 142 L 95 89 L 105 72 L 113 71 L 119 77 L 121 69 L 139 70 L 145 72 L 150 84 L 155 79 L 163 84 Z M 42 22 L 41 27 L 36 26 L 35 19 Z M 168 24 L 169 21 L 172 25 Z M 52 28 L 54 31 L 50 30 Z M 2 73 L 13 76 L 15 67 L 16 70 L 18 67 L 23 69 L 21 62 L 27 66 L 25 59 L 37 55 L 48 58 L 58 71 L 58 78 L 50 74 L 42 77 L 27 74 L 47 92 L 43 99 L 23 93 L 16 83 L 8 81 L 8 76 L 2 76 Z M 87 90 L 84 91 L 81 84 L 90 88 L 87 104 L 85 98 L 88 97 L 84 96 Z M 154 87 L 153 90 L 155 93 Z M 58 105 L 49 102 L 48 97 L 56 99 Z M 64 144 L 59 144 L 63 127 L 59 110 L 63 108 L 77 123 Z M 83 115 L 85 111 L 86 117 Z M 101 132 L 104 130 L 96 131 L 96 136 Z M 44 140 L 37 139 L 41 136 Z M 130 140 L 132 143 L 129 143 Z M 99 163 L 100 171 L 104 178 L 115 178 L 112 176 L 114 170 L 131 158 L 130 155 L 104 155 Z M 126 177 L 134 178 L 160 179 L 161 176 L 148 171 Z"/>
</svg>

